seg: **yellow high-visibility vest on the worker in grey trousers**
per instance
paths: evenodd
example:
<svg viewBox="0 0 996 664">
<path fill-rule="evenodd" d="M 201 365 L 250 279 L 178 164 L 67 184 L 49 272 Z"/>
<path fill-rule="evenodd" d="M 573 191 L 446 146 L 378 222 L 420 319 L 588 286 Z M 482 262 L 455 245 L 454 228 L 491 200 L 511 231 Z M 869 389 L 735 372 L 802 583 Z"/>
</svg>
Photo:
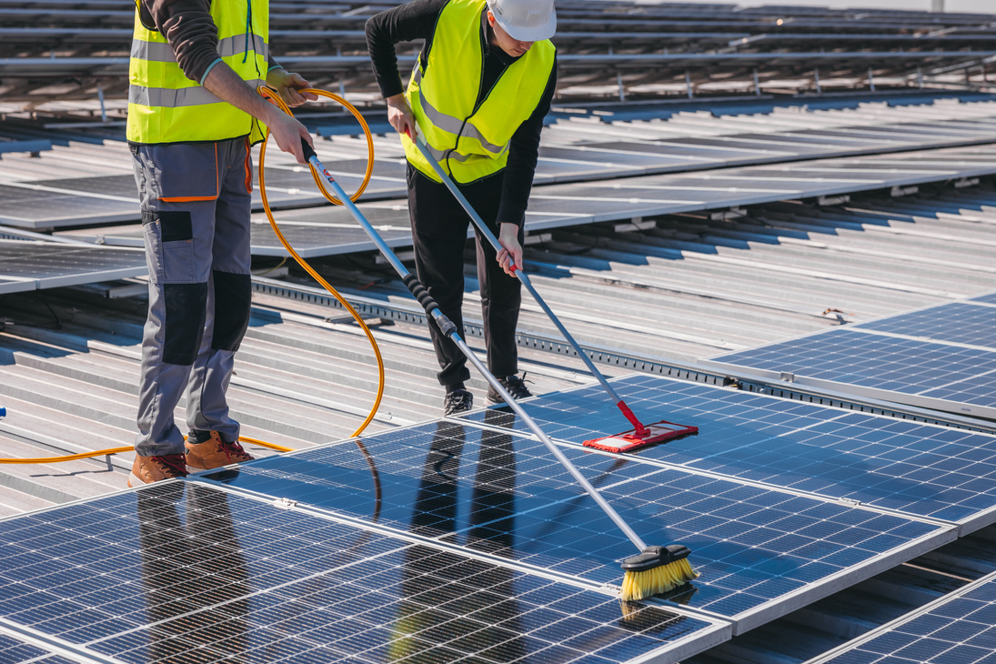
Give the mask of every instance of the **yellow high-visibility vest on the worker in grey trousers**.
<svg viewBox="0 0 996 664">
<path fill-rule="evenodd" d="M 251 3 L 251 4 L 250 4 Z M 270 35 L 269 0 L 214 0 L 218 55 L 254 90 L 266 83 Z M 128 67 L 127 139 L 176 143 L 250 137 L 265 127 L 247 112 L 222 102 L 191 81 L 176 64 L 166 38 L 142 25 L 135 11 Z"/>
</svg>

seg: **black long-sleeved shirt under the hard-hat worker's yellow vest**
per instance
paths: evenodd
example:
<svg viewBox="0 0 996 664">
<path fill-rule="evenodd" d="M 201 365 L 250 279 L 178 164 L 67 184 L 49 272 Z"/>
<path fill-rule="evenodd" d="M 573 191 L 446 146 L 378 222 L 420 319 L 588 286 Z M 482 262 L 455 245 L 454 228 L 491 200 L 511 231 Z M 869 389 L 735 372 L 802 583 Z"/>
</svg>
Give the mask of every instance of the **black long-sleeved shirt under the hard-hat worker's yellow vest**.
<svg viewBox="0 0 996 664">
<path fill-rule="evenodd" d="M 432 48 L 439 14 L 448 0 L 412 0 L 407 4 L 376 14 L 367 21 L 367 48 L 373 61 L 373 74 L 376 77 L 380 94 L 386 99 L 404 92 L 397 69 L 397 56 L 394 45 L 399 42 L 424 40 L 419 59 L 422 65 Z M 482 21 L 481 42 L 484 44 L 483 85 L 479 94 L 491 90 L 498 77 L 518 58 L 514 58 L 500 48 L 491 46 L 490 31 L 486 21 Z M 520 56 L 521 57 L 521 56 Z M 498 223 L 511 223 L 521 226 L 526 218 L 529 192 L 533 187 L 536 162 L 539 159 L 540 133 L 543 131 L 543 118 L 550 112 L 554 90 L 557 86 L 557 63 L 554 62 L 550 79 L 543 97 L 530 116 L 512 134 L 508 150 L 508 164 L 505 167 L 502 183 L 501 204 L 498 208 Z M 477 100 L 480 102 L 480 99 Z"/>
</svg>

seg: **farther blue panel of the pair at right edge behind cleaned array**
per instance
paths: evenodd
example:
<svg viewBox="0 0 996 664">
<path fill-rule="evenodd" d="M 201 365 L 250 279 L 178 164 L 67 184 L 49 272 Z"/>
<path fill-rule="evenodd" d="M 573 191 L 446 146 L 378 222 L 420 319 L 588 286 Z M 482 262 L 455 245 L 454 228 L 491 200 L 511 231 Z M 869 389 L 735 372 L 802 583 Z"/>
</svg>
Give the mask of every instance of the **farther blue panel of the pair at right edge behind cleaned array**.
<svg viewBox="0 0 996 664">
<path fill-rule="evenodd" d="M 996 348 L 996 307 L 953 302 L 881 321 L 863 323 L 854 330 L 876 330 L 935 341 L 953 341 Z"/>
</svg>

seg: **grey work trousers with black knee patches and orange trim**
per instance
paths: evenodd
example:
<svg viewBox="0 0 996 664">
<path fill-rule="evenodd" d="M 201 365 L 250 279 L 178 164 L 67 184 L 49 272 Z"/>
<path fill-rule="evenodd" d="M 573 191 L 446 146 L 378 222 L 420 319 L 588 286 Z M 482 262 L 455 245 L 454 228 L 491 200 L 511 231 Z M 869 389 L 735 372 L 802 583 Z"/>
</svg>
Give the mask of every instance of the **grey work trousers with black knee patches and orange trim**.
<svg viewBox="0 0 996 664">
<path fill-rule="evenodd" d="M 225 392 L 249 325 L 248 140 L 131 145 L 148 262 L 138 433 L 143 456 L 181 454 L 173 410 L 189 429 L 237 440 Z"/>
</svg>

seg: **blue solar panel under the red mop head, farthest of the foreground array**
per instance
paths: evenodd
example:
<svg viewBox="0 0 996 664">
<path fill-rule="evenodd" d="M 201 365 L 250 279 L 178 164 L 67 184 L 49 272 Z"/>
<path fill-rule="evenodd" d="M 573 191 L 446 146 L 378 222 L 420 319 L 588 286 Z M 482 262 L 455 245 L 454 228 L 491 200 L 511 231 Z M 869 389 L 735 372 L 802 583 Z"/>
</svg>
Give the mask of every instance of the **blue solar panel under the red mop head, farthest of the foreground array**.
<svg viewBox="0 0 996 664">
<path fill-rule="evenodd" d="M 661 376 L 611 382 L 644 423 L 666 419 L 699 428 L 696 435 L 640 450 L 634 458 L 973 529 L 996 519 L 996 436 Z M 576 444 L 628 427 L 599 385 L 547 394 L 522 406 L 548 435 Z M 501 425 L 528 432 L 517 417 L 506 418 Z M 481 422 L 482 416 L 464 419 Z"/>
</svg>

